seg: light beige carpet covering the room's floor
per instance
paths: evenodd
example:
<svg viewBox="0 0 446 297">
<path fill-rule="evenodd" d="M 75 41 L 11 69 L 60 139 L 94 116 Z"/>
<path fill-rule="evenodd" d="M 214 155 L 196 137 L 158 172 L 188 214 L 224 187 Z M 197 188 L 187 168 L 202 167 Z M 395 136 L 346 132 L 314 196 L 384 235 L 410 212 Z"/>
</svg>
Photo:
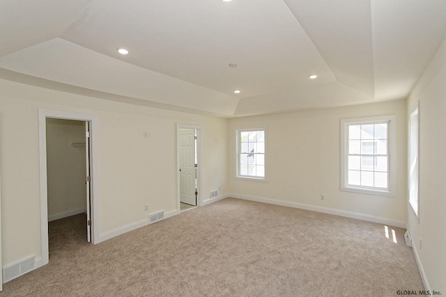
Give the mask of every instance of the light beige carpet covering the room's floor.
<svg viewBox="0 0 446 297">
<path fill-rule="evenodd" d="M 50 223 L 50 262 L 0 296 L 397 296 L 424 289 L 403 230 L 228 198 L 97 245 Z M 392 240 L 392 231 L 397 242 Z"/>
</svg>

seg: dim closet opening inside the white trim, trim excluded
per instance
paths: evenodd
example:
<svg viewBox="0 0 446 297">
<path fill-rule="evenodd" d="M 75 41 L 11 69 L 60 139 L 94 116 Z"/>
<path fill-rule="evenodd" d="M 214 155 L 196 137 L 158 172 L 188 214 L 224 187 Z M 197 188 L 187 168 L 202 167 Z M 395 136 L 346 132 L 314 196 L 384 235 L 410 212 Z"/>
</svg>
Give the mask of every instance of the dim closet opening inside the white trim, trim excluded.
<svg viewBox="0 0 446 297">
<path fill-rule="evenodd" d="M 89 121 L 46 118 L 50 252 L 68 234 L 91 242 L 89 133 Z"/>
</svg>

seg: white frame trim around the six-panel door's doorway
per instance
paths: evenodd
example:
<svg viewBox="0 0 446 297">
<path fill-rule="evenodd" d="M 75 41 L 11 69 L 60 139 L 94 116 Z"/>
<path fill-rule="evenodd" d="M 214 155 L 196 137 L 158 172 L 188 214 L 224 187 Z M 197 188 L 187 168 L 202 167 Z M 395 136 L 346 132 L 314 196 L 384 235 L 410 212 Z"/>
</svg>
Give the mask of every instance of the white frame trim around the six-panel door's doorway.
<svg viewBox="0 0 446 297">
<path fill-rule="evenodd" d="M 203 158 L 201 156 L 201 126 L 189 125 L 189 124 L 176 124 L 176 189 L 177 189 L 177 204 L 176 209 L 178 214 L 181 211 L 180 208 L 180 129 L 196 129 L 197 130 L 197 207 L 201 206 L 203 195 L 201 195 L 201 166 L 203 164 Z"/>
</svg>

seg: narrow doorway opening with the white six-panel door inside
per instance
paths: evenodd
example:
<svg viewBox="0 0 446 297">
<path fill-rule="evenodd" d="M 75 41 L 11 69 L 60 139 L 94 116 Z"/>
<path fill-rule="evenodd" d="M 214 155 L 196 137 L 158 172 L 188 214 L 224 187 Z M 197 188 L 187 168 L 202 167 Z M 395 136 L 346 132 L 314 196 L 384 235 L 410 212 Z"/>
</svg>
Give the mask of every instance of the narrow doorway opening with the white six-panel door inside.
<svg viewBox="0 0 446 297">
<path fill-rule="evenodd" d="M 201 127 L 178 125 L 178 211 L 197 207 L 201 182 Z"/>
</svg>

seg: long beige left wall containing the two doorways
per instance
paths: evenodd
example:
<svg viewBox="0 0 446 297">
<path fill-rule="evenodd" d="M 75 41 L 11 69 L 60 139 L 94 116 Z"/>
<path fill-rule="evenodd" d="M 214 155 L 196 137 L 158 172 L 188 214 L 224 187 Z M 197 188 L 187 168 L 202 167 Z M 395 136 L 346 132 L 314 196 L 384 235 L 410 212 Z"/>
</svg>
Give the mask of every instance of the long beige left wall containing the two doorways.
<svg viewBox="0 0 446 297">
<path fill-rule="evenodd" d="M 228 193 L 227 120 L 110 102 L 0 80 L 3 265 L 40 257 L 38 109 L 98 118 L 100 233 L 177 207 L 176 123 L 201 125 L 203 198 Z M 12 128 L 13 127 L 13 128 Z M 151 138 L 144 138 L 144 131 Z M 144 211 L 144 204 L 150 210 Z M 98 222 L 95 222 L 98 223 Z"/>
</svg>

